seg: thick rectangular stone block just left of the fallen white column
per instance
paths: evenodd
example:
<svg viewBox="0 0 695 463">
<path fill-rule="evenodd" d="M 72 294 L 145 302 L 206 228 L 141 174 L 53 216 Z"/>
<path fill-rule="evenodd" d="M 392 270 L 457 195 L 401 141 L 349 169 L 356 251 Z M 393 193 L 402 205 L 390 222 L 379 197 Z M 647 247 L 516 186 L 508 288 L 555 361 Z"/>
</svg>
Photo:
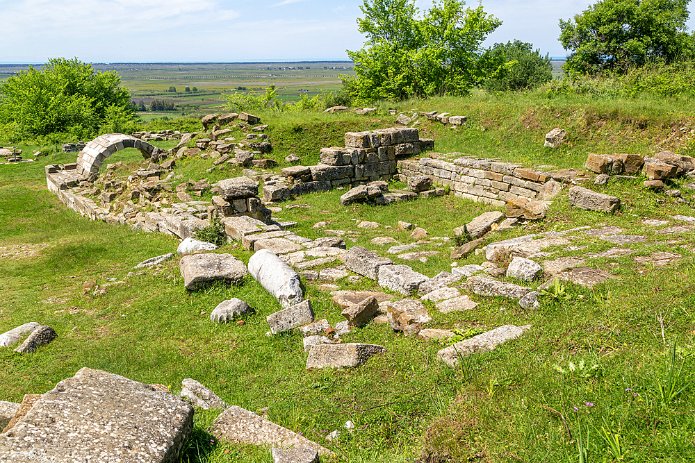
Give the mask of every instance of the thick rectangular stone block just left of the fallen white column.
<svg viewBox="0 0 695 463">
<path fill-rule="evenodd" d="M 179 262 L 183 285 L 194 291 L 221 281 L 238 285 L 249 273 L 243 262 L 231 254 L 189 254 Z"/>
</svg>

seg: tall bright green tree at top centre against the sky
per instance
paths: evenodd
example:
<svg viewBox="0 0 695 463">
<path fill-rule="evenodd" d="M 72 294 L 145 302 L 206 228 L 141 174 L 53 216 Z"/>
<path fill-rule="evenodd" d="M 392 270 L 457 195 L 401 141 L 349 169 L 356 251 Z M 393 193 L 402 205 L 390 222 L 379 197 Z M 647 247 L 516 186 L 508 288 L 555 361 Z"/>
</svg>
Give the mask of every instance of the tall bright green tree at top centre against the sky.
<svg viewBox="0 0 695 463">
<path fill-rule="evenodd" d="M 363 0 L 360 8 L 366 42 L 347 51 L 355 76 L 343 78 L 356 101 L 464 95 L 494 70 L 480 44 L 502 22 L 482 6 L 439 0 L 422 16 L 414 0 Z"/>
</svg>

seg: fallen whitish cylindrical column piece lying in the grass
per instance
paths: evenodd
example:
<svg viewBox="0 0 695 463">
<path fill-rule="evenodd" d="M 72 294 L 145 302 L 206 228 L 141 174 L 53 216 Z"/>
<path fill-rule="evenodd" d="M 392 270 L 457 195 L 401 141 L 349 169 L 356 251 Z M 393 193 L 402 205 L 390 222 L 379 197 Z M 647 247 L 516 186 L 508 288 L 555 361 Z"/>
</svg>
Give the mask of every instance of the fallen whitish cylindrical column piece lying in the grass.
<svg viewBox="0 0 695 463">
<path fill-rule="evenodd" d="M 300 287 L 300 276 L 267 249 L 256 251 L 251 256 L 249 271 L 284 308 L 302 302 L 304 293 Z"/>
</svg>

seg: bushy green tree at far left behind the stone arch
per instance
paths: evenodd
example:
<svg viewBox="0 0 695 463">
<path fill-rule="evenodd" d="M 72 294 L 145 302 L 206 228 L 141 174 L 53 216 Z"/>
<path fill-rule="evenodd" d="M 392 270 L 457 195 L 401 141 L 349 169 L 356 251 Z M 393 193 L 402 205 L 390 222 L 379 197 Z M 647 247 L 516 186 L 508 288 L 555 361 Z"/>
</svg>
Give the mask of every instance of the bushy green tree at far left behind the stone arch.
<svg viewBox="0 0 695 463">
<path fill-rule="evenodd" d="M 77 58 L 53 58 L 0 83 L 0 126 L 26 137 L 65 133 L 86 139 L 110 118 L 133 114 L 115 72 L 97 72 Z"/>
</svg>

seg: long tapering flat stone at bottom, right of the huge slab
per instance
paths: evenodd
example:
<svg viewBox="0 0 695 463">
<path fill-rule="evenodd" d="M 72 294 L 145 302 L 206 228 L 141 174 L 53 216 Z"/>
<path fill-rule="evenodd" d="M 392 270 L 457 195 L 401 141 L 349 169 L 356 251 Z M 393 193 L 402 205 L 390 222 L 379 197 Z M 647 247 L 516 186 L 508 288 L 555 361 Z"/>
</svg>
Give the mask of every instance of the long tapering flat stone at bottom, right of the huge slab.
<svg viewBox="0 0 695 463">
<path fill-rule="evenodd" d="M 334 455 L 332 451 L 316 444 L 316 442 L 236 405 L 232 405 L 215 418 L 210 431 L 220 439 L 238 444 L 270 445 L 284 448 L 309 446 L 315 448 L 320 455 Z"/>
</svg>

